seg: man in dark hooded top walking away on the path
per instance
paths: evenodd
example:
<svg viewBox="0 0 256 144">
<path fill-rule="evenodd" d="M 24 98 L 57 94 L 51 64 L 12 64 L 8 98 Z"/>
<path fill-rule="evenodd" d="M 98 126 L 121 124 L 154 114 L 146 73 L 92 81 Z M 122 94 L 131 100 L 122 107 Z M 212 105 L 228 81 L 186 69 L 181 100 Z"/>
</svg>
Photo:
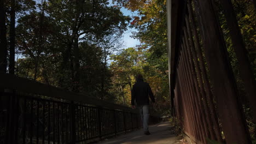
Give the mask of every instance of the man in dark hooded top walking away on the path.
<svg viewBox="0 0 256 144">
<path fill-rule="evenodd" d="M 135 109 L 135 103 L 139 108 L 139 113 L 141 113 L 141 119 L 143 122 L 143 129 L 145 135 L 150 135 L 148 131 L 148 118 L 149 118 L 149 98 L 154 103 L 155 98 L 152 93 L 152 90 L 147 82 L 143 81 L 141 74 L 136 76 L 136 83 L 132 86 L 131 91 L 131 105 L 132 109 Z"/>
</svg>

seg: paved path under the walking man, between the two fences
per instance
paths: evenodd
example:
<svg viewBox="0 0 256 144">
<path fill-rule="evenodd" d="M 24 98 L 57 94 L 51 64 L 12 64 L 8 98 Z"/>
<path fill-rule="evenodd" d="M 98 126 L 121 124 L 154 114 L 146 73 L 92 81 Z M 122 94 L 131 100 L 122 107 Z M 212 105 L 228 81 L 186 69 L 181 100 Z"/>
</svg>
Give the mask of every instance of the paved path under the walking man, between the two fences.
<svg viewBox="0 0 256 144">
<path fill-rule="evenodd" d="M 112 139 L 99 142 L 98 144 L 180 144 L 181 139 L 175 134 L 172 134 L 169 122 L 162 122 L 160 124 L 149 127 L 151 135 L 144 135 L 143 129 L 131 131 L 127 134 L 113 137 Z"/>
</svg>

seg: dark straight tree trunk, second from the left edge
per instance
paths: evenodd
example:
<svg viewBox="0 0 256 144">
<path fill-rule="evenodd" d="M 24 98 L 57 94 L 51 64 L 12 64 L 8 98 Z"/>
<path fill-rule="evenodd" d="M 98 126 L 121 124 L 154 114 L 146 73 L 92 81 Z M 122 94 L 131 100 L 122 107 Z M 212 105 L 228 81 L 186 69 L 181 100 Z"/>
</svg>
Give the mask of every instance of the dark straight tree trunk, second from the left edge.
<svg viewBox="0 0 256 144">
<path fill-rule="evenodd" d="M 9 74 L 14 75 L 14 70 L 15 70 L 15 0 L 11 0 Z"/>
</svg>

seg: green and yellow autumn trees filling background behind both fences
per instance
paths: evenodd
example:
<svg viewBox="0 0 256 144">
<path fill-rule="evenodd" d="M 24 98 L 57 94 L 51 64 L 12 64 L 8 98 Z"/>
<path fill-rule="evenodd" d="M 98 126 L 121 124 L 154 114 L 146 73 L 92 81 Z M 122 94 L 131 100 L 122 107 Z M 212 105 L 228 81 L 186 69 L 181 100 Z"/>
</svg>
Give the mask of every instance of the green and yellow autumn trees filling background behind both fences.
<svg viewBox="0 0 256 144">
<path fill-rule="evenodd" d="M 141 73 L 158 101 L 156 111 L 167 114 L 166 0 L 109 2 L 0 1 L 0 71 L 128 106 L 135 75 Z M 232 3 L 256 76 L 254 5 L 250 0 Z M 126 16 L 121 8 L 136 15 Z M 224 15 L 219 18 L 242 97 L 236 55 Z M 141 45 L 123 49 L 127 28 L 137 30 L 132 38 Z"/>
</svg>

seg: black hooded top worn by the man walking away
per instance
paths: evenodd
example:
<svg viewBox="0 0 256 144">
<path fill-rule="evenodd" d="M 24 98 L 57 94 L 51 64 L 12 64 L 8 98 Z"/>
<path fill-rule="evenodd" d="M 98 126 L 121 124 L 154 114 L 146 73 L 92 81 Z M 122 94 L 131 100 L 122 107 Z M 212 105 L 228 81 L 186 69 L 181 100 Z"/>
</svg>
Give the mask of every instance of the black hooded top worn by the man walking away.
<svg viewBox="0 0 256 144">
<path fill-rule="evenodd" d="M 149 105 L 149 98 L 155 103 L 154 94 L 147 82 L 137 80 L 135 85 L 132 86 L 131 91 L 131 105 Z"/>
</svg>

